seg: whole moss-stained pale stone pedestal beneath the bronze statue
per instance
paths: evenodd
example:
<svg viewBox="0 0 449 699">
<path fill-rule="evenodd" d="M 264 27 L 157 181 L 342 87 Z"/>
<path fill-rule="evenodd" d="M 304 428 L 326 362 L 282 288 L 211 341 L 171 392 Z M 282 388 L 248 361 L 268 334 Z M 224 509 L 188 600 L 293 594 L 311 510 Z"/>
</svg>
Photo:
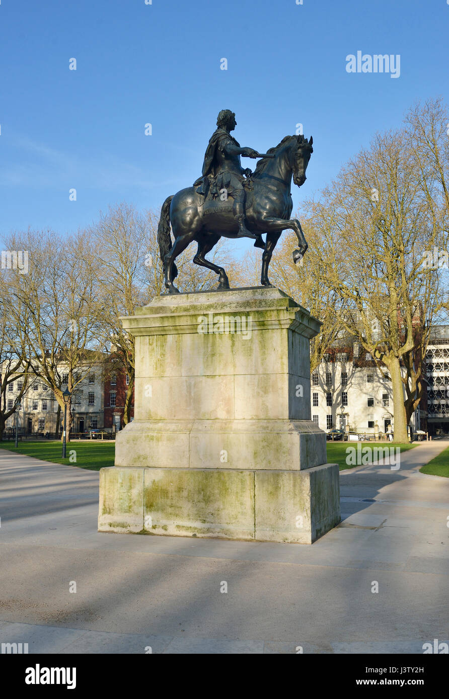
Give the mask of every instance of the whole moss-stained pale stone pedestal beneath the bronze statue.
<svg viewBox="0 0 449 699">
<path fill-rule="evenodd" d="M 312 543 L 340 521 L 311 421 L 320 323 L 280 289 L 155 298 L 136 340 L 134 421 L 100 472 L 99 531 Z"/>
</svg>

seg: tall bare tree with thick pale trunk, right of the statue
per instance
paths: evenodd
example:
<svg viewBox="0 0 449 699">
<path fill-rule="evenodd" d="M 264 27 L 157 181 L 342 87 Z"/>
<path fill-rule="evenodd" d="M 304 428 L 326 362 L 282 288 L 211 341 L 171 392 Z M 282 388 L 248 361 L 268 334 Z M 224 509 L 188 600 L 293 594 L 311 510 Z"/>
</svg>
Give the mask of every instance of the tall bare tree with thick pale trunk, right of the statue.
<svg viewBox="0 0 449 699">
<path fill-rule="evenodd" d="M 404 391 L 422 389 L 402 368 L 420 372 L 438 305 L 439 273 L 423 258 L 440 239 L 441 214 L 422 177 L 405 129 L 377 134 L 308 207 L 325 240 L 326 286 L 345 303 L 341 323 L 390 372 L 397 441 L 408 439 Z"/>
</svg>

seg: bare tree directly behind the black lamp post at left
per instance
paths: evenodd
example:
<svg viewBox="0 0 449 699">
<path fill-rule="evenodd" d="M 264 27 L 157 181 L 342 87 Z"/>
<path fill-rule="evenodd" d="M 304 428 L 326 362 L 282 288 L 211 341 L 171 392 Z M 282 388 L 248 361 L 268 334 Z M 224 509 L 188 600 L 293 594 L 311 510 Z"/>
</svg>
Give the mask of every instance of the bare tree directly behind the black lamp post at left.
<svg viewBox="0 0 449 699">
<path fill-rule="evenodd" d="M 20 326 L 17 309 L 24 309 L 27 359 L 64 409 L 64 385 L 71 396 L 80 394 L 83 380 L 104 354 L 98 250 L 83 231 L 66 238 L 52 231 L 15 233 L 8 246 L 29 254 L 28 273 L 10 275 L 13 321 Z M 71 398 L 67 408 L 69 433 Z"/>
</svg>

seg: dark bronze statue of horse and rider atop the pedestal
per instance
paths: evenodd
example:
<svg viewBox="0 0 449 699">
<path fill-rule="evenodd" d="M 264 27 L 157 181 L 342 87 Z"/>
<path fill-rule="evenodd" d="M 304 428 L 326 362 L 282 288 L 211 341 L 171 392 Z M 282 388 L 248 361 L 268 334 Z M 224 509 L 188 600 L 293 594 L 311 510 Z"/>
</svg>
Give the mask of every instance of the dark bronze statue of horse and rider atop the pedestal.
<svg viewBox="0 0 449 699">
<path fill-rule="evenodd" d="M 304 136 L 285 136 L 266 154 L 259 154 L 252 148 L 242 148 L 231 136 L 236 119 L 229 109 L 220 112 L 217 126 L 209 140 L 201 178 L 193 187 L 167 197 L 162 205 L 157 242 L 169 294 L 178 293 L 173 285 L 178 275 L 175 259 L 192 240 L 198 243 L 194 263 L 219 275 L 218 289 L 229 289 L 227 274 L 204 256 L 221 236 L 254 238 L 255 247 L 264 249 L 261 283 L 265 287 L 271 287 L 268 268 L 282 231 L 292 229 L 297 234 L 299 250 L 293 252 L 295 263 L 308 247 L 299 220 L 290 219 L 293 208 L 290 188 L 292 175 L 298 187 L 306 181 L 306 168 L 313 153 L 312 136 L 310 140 Z M 261 158 L 254 173 L 250 168 L 243 170 L 241 156 Z M 173 245 L 170 224 L 175 238 Z M 266 243 L 262 240 L 263 233 Z"/>
</svg>

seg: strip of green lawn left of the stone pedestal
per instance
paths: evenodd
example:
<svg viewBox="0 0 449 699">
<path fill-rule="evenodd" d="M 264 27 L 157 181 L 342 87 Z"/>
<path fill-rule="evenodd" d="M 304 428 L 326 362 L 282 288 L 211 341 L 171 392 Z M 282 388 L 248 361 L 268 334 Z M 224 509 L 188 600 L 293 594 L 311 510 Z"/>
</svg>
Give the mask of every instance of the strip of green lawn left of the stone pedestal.
<svg viewBox="0 0 449 699">
<path fill-rule="evenodd" d="M 114 466 L 115 442 L 100 440 L 86 440 L 85 442 L 67 442 L 66 459 L 62 459 L 62 442 L 48 440 L 43 442 L 24 441 L 19 442 L 17 449 L 14 441 L 0 442 L 1 449 L 8 449 L 10 452 L 34 456 L 42 461 L 52 461 L 53 463 L 66 463 L 68 466 L 78 466 L 79 468 L 89 468 L 92 471 L 99 471 L 104 466 Z M 70 461 L 70 452 L 72 460 Z M 73 459 L 76 458 L 76 461 Z"/>
</svg>

